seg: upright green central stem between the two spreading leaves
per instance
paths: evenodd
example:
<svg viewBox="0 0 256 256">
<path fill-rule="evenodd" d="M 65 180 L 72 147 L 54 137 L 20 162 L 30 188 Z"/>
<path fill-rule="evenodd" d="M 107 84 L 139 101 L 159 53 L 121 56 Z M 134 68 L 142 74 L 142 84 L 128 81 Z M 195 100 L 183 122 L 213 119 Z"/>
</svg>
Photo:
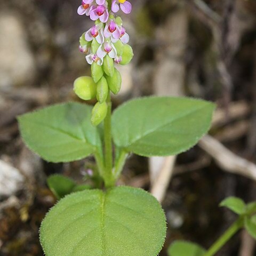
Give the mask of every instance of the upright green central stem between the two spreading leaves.
<svg viewBox="0 0 256 256">
<path fill-rule="evenodd" d="M 105 170 L 104 180 L 106 187 L 113 187 L 115 185 L 115 179 L 113 177 L 113 152 L 112 152 L 112 138 L 111 138 L 111 98 L 110 92 L 107 98 L 108 111 L 104 120 L 104 141 L 105 141 Z"/>
</svg>

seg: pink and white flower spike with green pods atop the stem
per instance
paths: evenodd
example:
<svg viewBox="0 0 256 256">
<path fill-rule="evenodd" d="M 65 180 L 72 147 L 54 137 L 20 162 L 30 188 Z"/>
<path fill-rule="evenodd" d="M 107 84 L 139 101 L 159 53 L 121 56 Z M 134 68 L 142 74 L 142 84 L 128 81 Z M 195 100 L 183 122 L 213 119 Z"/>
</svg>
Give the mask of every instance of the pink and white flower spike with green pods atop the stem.
<svg viewBox="0 0 256 256">
<path fill-rule="evenodd" d="M 115 65 L 126 65 L 133 57 L 132 47 L 127 44 L 130 37 L 126 33 L 123 21 L 114 15 L 120 9 L 127 14 L 132 11 L 132 5 L 126 0 L 83 0 L 77 10 L 79 15 L 85 14 L 95 21 L 79 39 L 79 51 L 86 54 L 85 59 L 91 65 L 94 81 L 92 86 L 95 86 L 93 90 L 97 91 L 95 97 L 98 103 L 93 108 L 93 125 L 98 125 L 105 118 L 103 114 L 100 119 L 96 117 L 101 108 L 105 109 L 108 93 L 117 94 L 121 89 L 122 77 Z M 75 92 L 80 98 L 81 93 L 94 95 L 86 90 L 89 90 L 88 86 L 80 86 L 79 90 L 75 87 Z M 83 99 L 86 100 L 86 97 Z"/>
</svg>

